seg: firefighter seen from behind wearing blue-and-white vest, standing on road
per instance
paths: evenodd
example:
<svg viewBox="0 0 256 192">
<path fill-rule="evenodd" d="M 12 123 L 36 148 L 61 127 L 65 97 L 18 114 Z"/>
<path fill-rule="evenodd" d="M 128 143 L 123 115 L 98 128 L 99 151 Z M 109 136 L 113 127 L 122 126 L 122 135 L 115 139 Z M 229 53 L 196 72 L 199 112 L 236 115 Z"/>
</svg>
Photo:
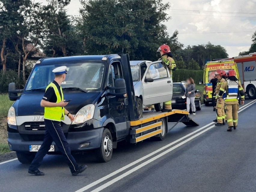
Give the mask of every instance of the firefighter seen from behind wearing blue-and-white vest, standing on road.
<svg viewBox="0 0 256 192">
<path fill-rule="evenodd" d="M 221 98 L 223 96 L 223 99 Z M 239 98 L 241 98 L 241 104 L 244 104 L 245 92 L 242 88 L 241 83 L 236 78 L 236 72 L 231 69 L 228 72 L 228 79 L 225 81 L 220 88 L 217 96 L 220 100 L 224 100 L 227 110 L 227 131 L 232 131 L 237 128 L 238 122 L 238 110 L 239 110 Z"/>
</svg>

